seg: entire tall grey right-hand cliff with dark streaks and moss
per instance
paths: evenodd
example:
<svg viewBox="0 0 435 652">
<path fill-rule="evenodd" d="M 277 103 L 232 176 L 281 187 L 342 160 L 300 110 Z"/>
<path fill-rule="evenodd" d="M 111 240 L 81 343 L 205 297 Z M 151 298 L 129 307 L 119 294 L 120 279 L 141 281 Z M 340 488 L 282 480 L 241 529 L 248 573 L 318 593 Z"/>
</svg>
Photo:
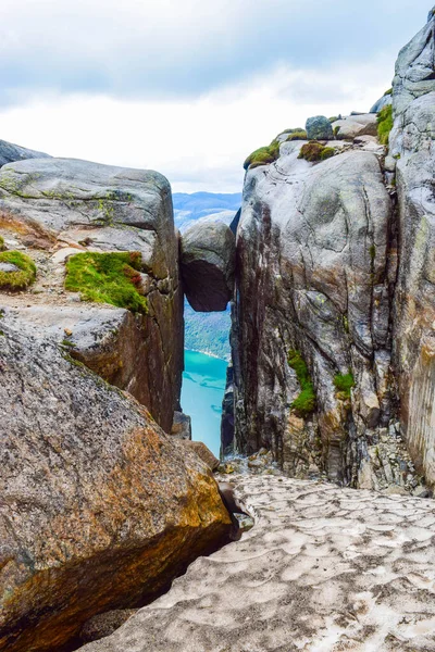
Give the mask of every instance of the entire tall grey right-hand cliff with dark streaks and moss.
<svg viewBox="0 0 435 652">
<path fill-rule="evenodd" d="M 399 54 L 389 152 L 373 114 L 333 122 L 333 140 L 318 116 L 323 140 L 288 130 L 246 162 L 235 448 L 291 475 L 412 490 L 410 452 L 435 480 L 434 25 Z"/>
</svg>

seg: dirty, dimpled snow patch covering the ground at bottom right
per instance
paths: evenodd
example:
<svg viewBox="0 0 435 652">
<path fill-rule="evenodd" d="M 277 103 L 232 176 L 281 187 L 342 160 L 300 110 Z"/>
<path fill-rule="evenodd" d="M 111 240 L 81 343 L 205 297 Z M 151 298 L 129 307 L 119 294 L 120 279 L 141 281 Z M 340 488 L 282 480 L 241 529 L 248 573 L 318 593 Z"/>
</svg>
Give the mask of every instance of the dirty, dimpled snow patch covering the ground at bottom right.
<svg viewBox="0 0 435 652">
<path fill-rule="evenodd" d="M 254 527 L 83 652 L 435 650 L 433 501 L 236 481 Z"/>
</svg>

